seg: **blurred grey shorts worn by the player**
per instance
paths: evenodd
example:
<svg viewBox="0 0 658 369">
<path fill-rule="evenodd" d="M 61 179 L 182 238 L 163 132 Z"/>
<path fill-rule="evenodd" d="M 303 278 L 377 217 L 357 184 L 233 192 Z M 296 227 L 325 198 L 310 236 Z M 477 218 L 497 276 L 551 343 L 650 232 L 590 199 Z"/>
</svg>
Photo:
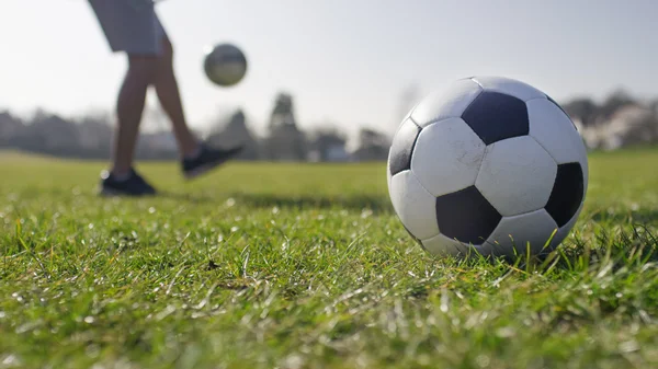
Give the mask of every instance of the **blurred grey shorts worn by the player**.
<svg viewBox="0 0 658 369">
<path fill-rule="evenodd" d="M 89 0 L 113 53 L 160 55 L 164 28 L 152 0 Z"/>
</svg>

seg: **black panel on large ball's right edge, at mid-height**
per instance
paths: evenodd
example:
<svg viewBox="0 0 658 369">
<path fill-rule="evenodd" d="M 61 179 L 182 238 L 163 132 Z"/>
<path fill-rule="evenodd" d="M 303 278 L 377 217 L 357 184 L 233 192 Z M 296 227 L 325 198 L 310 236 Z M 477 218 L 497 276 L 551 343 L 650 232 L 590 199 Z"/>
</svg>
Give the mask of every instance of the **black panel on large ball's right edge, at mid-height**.
<svg viewBox="0 0 658 369">
<path fill-rule="evenodd" d="M 574 218 L 585 196 L 585 176 L 580 163 L 557 166 L 555 184 L 544 207 L 557 226 L 563 227 Z"/>
</svg>

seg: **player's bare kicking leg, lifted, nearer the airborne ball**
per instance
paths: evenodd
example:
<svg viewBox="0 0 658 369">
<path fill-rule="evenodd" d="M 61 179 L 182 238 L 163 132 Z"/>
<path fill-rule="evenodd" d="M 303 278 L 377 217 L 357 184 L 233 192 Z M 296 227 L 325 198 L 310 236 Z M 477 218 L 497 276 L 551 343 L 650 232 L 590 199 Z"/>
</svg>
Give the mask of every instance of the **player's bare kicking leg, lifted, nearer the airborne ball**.
<svg viewBox="0 0 658 369">
<path fill-rule="evenodd" d="M 198 152 L 200 146 L 185 122 L 183 104 L 181 103 L 179 87 L 173 72 L 173 48 L 167 36 L 162 38 L 162 56 L 158 58 L 154 85 L 160 105 L 173 126 L 173 134 L 181 155 L 194 155 Z"/>
</svg>

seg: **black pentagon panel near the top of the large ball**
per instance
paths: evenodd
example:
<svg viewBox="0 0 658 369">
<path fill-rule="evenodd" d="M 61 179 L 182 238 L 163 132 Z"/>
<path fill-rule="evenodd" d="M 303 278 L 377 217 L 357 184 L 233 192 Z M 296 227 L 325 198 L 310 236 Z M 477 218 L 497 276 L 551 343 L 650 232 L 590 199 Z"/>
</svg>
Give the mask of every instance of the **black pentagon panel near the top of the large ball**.
<svg viewBox="0 0 658 369">
<path fill-rule="evenodd" d="M 462 118 L 486 145 L 525 136 L 530 131 L 525 102 L 500 92 L 480 93 Z"/>
</svg>

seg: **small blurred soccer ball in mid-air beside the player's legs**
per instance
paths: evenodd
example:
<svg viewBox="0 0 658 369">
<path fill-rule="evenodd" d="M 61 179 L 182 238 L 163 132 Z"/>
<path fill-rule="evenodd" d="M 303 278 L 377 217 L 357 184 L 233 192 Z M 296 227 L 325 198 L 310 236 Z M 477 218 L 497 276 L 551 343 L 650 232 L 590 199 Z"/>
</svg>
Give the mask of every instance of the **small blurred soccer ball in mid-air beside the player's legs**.
<svg viewBox="0 0 658 369">
<path fill-rule="evenodd" d="M 219 44 L 206 50 L 203 69 L 213 83 L 230 87 L 247 73 L 247 58 L 237 46 Z"/>
</svg>

